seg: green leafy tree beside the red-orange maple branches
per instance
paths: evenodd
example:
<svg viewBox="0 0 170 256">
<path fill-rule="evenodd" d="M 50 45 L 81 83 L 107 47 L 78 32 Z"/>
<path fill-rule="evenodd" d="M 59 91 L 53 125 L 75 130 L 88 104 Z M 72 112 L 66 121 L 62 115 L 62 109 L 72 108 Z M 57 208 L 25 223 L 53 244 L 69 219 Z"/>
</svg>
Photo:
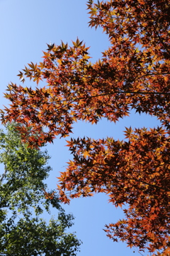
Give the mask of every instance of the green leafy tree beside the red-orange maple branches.
<svg viewBox="0 0 170 256">
<path fill-rule="evenodd" d="M 0 255 L 74 256 L 80 241 L 74 233 L 65 233 L 72 226 L 72 215 L 66 215 L 54 191 L 47 192 L 45 178 L 47 151 L 30 149 L 21 142 L 14 124 L 7 133 L 0 132 Z M 57 220 L 49 223 L 40 218 L 50 206 L 59 210 Z"/>
</svg>

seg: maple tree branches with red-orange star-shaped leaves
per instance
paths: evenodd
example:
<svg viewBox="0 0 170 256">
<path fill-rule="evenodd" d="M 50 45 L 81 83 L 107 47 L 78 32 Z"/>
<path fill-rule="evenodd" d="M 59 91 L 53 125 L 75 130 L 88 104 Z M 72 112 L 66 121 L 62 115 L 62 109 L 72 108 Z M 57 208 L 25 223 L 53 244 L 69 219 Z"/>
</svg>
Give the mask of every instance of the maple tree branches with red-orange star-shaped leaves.
<svg viewBox="0 0 170 256">
<path fill-rule="evenodd" d="M 117 122 L 130 110 L 157 117 L 161 127 L 126 128 L 128 142 L 71 139 L 74 158 L 61 173 L 58 189 L 65 203 L 107 193 L 115 206 L 126 207 L 125 219 L 106 225 L 108 237 L 168 255 L 169 1 L 89 0 L 87 6 L 89 26 L 101 26 L 111 43 L 101 60 L 91 63 L 89 48 L 79 39 L 70 47 L 48 45 L 43 61 L 28 64 L 18 75 L 22 82 L 26 77 L 47 85 L 8 85 L 5 97 L 11 107 L 1 111 L 2 122 L 23 124 L 18 126 L 23 141 L 40 146 L 57 135 L 67 137 L 77 120 L 94 124 L 106 117 Z"/>
</svg>

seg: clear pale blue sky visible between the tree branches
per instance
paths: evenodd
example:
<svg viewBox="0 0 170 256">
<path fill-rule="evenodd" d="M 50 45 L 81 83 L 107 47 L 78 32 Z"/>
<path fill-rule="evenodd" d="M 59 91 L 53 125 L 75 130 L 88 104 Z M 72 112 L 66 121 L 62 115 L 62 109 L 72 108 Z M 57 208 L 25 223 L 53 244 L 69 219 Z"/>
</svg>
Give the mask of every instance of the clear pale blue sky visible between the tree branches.
<svg viewBox="0 0 170 256">
<path fill-rule="evenodd" d="M 46 43 L 60 44 L 84 40 L 86 46 L 91 46 L 91 61 L 98 60 L 101 52 L 109 46 L 108 38 L 101 29 L 95 31 L 88 27 L 89 14 L 86 11 L 85 0 L 0 0 L 0 29 L 1 29 L 1 102 L 8 105 L 3 93 L 9 82 L 19 83 L 18 70 L 24 65 L 41 61 L 42 50 L 47 49 Z M 30 86 L 29 82 L 25 85 Z M 102 120 L 97 125 L 78 122 L 74 125 L 72 137 L 88 136 L 94 139 L 114 137 L 123 139 L 125 127 L 154 127 L 159 122 L 156 118 L 134 112 L 130 117 L 121 119 L 113 124 Z M 68 139 L 68 138 L 67 138 Z M 57 138 L 54 144 L 47 145 L 52 174 L 48 179 L 50 188 L 56 188 L 57 176 L 64 171 L 66 162 L 71 158 L 65 139 Z M 123 217 L 120 208 L 108 203 L 103 194 L 91 198 L 77 198 L 69 206 L 64 206 L 67 213 L 75 216 L 72 231 L 83 241 L 78 256 L 130 256 L 140 255 L 134 249 L 130 250 L 123 242 L 112 242 L 106 238 L 104 225 L 114 223 Z M 52 212 L 55 215 L 55 212 Z M 44 216 L 46 218 L 46 216 Z"/>
</svg>

